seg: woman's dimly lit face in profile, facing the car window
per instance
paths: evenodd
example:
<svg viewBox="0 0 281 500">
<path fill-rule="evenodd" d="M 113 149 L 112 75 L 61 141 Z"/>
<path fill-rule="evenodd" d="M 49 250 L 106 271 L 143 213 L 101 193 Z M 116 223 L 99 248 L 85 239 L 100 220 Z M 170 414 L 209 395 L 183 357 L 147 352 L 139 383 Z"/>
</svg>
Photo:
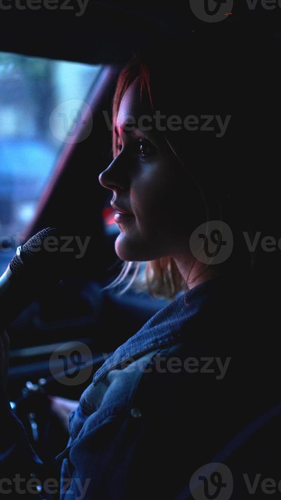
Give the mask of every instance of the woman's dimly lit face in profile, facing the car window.
<svg viewBox="0 0 281 500">
<path fill-rule="evenodd" d="M 144 119 L 142 125 L 144 115 L 152 116 L 152 112 L 141 105 L 137 78 L 119 107 L 118 154 L 99 175 L 101 185 L 113 191 L 114 208 L 130 213 L 116 217 L 120 234 L 115 251 L 125 261 L 186 254 L 194 211 L 202 203 L 187 170 L 163 135 L 155 129 L 145 130 L 149 122 Z M 128 121 L 131 124 L 126 127 Z"/>
</svg>

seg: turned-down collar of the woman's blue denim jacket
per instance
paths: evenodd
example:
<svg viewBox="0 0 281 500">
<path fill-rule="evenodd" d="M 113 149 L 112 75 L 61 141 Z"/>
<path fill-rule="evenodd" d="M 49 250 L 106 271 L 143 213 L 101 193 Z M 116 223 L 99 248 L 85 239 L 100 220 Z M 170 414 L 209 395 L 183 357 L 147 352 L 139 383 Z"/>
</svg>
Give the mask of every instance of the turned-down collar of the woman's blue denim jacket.
<svg viewBox="0 0 281 500">
<path fill-rule="evenodd" d="M 183 292 L 170 304 L 157 311 L 135 335 L 126 340 L 105 360 L 95 372 L 93 383 L 96 384 L 106 372 L 124 361 L 152 351 L 163 344 L 179 340 L 182 336 L 182 324 L 199 313 L 202 305 L 217 288 L 220 288 L 223 281 L 221 277 L 204 281 L 191 290 Z"/>
</svg>

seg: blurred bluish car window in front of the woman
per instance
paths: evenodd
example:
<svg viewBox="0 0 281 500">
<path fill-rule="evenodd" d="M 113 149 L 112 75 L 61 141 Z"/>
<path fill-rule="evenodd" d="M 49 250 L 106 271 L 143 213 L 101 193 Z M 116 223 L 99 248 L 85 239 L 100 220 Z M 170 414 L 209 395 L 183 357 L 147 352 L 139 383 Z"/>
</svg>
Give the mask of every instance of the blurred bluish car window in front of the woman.
<svg viewBox="0 0 281 500">
<path fill-rule="evenodd" d="M 0 272 L 73 140 L 102 68 L 0 52 Z"/>
</svg>

